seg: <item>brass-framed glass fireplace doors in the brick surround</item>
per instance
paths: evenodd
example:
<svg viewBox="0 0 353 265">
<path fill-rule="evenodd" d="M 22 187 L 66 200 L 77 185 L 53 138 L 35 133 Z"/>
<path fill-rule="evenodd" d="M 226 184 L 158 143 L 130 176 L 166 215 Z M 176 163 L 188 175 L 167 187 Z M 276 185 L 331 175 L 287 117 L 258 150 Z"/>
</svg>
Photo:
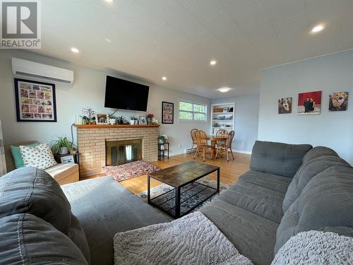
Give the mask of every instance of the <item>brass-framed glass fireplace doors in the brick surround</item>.
<svg viewBox="0 0 353 265">
<path fill-rule="evenodd" d="M 107 165 L 122 165 L 142 159 L 141 140 L 107 141 Z"/>
</svg>

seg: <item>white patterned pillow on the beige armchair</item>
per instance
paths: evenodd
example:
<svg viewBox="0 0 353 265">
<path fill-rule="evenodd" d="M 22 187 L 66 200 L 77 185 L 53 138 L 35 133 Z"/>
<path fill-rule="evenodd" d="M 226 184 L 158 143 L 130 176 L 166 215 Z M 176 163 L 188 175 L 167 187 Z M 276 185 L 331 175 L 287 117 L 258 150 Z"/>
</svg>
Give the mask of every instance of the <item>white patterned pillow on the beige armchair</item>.
<svg viewBox="0 0 353 265">
<path fill-rule="evenodd" d="M 37 167 L 44 170 L 57 164 L 52 150 L 46 142 L 35 147 L 20 146 L 20 153 L 25 167 Z"/>
</svg>

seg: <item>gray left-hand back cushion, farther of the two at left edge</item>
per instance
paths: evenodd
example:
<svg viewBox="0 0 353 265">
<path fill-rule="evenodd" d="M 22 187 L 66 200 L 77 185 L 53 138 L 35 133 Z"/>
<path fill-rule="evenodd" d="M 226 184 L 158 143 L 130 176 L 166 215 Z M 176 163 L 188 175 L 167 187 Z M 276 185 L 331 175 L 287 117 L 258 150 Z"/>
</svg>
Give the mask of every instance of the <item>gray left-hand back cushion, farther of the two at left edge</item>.
<svg viewBox="0 0 353 265">
<path fill-rule="evenodd" d="M 71 237 L 90 260 L 88 243 L 59 184 L 44 170 L 22 167 L 0 178 L 0 218 L 30 213 Z"/>
</svg>

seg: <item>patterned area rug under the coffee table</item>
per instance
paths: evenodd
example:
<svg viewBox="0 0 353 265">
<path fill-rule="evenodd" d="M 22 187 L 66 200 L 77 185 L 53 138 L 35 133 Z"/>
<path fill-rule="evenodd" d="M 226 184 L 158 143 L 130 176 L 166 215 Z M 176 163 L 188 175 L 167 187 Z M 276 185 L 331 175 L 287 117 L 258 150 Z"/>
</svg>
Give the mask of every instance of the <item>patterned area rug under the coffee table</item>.
<svg viewBox="0 0 353 265">
<path fill-rule="evenodd" d="M 198 179 L 197 182 L 199 182 L 201 184 L 205 184 L 210 187 L 217 187 L 217 181 L 214 179 L 208 179 L 208 177 L 203 177 L 202 179 Z M 184 194 L 184 190 L 188 190 L 189 192 L 185 193 L 185 196 L 188 196 L 188 193 L 191 193 L 193 191 L 193 187 L 195 187 L 196 190 L 198 189 L 198 187 L 196 187 L 196 185 L 194 183 L 191 183 L 191 184 L 188 184 L 188 185 L 182 187 L 181 194 Z M 229 189 L 229 187 L 230 187 L 230 185 L 220 182 L 220 194 L 222 192 L 224 192 L 225 190 Z M 163 183 L 163 184 L 160 184 L 156 187 L 153 187 L 150 191 L 151 192 L 150 196 L 151 196 L 151 198 L 155 198 L 157 196 L 160 196 L 161 194 L 164 194 L 166 192 L 171 191 L 172 189 L 174 189 L 174 188 Z M 220 194 L 215 194 L 214 196 L 210 197 L 210 199 L 208 199 L 207 201 L 204 201 L 203 204 L 201 204 L 200 206 L 195 208 L 192 212 L 198 211 L 198 210 L 200 210 L 201 207 L 203 207 L 207 204 L 210 204 L 210 202 L 217 199 L 217 197 Z M 205 194 L 205 195 L 207 195 L 207 194 Z M 145 201 L 147 203 L 147 190 L 145 190 L 144 192 L 140 192 L 139 194 L 137 194 L 137 196 L 139 196 L 143 201 Z M 173 194 L 172 194 L 172 196 L 174 198 Z M 202 196 L 202 194 L 200 196 Z M 163 199 L 162 197 L 160 197 L 160 198 Z M 172 198 L 168 198 L 168 199 L 172 199 Z M 183 195 L 181 195 L 181 200 L 182 199 L 183 199 Z M 200 199 L 202 199 L 202 198 L 200 198 Z M 194 204 L 194 203 L 195 203 L 194 200 L 188 200 L 184 203 L 185 204 L 184 207 L 191 208 L 191 204 Z M 181 209 L 181 212 L 182 211 L 183 210 Z"/>
</svg>

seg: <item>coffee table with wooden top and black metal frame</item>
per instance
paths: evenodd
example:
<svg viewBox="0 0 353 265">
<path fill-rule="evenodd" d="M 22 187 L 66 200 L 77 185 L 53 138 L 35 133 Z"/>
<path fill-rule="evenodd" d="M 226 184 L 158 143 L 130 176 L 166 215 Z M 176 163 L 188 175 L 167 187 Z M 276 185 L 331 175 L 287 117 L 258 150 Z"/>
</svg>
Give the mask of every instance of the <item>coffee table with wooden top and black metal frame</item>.
<svg viewBox="0 0 353 265">
<path fill-rule="evenodd" d="M 197 182 L 198 179 L 215 171 L 217 171 L 217 187 L 210 187 L 205 183 Z M 172 186 L 174 189 L 150 198 L 151 178 Z M 160 208 L 173 218 L 179 218 L 190 213 L 211 196 L 220 192 L 220 167 L 188 161 L 148 174 L 147 185 L 148 204 Z"/>
</svg>

